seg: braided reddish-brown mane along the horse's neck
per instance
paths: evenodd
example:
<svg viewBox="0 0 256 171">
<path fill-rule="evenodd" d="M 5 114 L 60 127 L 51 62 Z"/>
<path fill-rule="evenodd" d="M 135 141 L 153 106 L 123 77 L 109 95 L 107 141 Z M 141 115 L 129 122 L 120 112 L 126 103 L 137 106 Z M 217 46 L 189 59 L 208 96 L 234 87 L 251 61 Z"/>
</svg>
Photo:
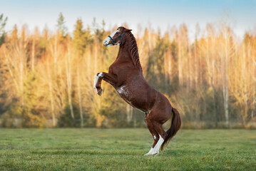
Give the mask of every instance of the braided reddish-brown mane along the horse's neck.
<svg viewBox="0 0 256 171">
<path fill-rule="evenodd" d="M 133 60 L 134 66 L 136 66 L 140 71 L 142 71 L 142 67 L 140 65 L 140 57 L 138 56 L 138 46 L 135 40 L 135 37 L 133 36 L 133 33 L 130 31 L 127 32 L 129 37 L 129 45 L 128 46 L 130 49 L 128 49 L 128 52 L 130 53 L 130 57 Z"/>
</svg>

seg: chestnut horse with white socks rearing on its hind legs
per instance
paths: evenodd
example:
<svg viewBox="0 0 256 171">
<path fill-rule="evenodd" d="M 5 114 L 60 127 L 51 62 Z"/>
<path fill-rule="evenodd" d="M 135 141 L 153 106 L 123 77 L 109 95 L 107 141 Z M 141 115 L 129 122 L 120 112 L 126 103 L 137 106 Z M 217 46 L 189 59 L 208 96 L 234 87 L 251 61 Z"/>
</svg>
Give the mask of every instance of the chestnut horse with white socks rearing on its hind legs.
<svg viewBox="0 0 256 171">
<path fill-rule="evenodd" d="M 181 125 L 180 113 L 170 105 L 168 98 L 150 86 L 143 76 L 138 46 L 131 29 L 118 27 L 104 41 L 103 45 L 119 46 L 118 56 L 108 68 L 108 73 L 96 73 L 93 88 L 101 95 L 101 81 L 110 83 L 118 95 L 128 104 L 145 113 L 145 123 L 153 136 L 153 145 L 145 155 L 158 155 L 168 145 Z M 170 119 L 170 128 L 165 132 L 163 124 Z"/>
</svg>

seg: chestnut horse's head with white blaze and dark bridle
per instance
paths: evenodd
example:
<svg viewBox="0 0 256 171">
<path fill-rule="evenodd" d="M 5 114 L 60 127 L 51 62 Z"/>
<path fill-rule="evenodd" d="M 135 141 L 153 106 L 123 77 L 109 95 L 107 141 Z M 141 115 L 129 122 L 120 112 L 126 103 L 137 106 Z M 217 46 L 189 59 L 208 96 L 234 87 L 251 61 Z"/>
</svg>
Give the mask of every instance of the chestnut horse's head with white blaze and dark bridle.
<svg viewBox="0 0 256 171">
<path fill-rule="evenodd" d="M 106 47 L 109 46 L 120 46 L 126 39 L 126 32 L 131 31 L 131 29 L 125 28 L 123 26 L 118 27 L 116 31 L 111 33 L 104 41 L 103 45 Z"/>
</svg>

